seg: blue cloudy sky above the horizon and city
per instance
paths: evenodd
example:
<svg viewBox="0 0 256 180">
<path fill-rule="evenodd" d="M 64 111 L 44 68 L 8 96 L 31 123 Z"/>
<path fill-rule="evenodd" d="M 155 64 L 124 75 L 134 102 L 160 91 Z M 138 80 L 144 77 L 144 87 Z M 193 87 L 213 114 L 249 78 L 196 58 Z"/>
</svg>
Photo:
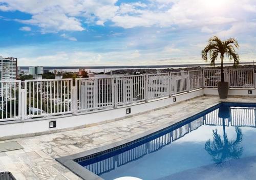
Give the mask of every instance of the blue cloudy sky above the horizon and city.
<svg viewBox="0 0 256 180">
<path fill-rule="evenodd" d="M 248 62 L 255 30 L 256 0 L 0 0 L 0 55 L 20 66 L 204 63 L 214 35 Z"/>
</svg>

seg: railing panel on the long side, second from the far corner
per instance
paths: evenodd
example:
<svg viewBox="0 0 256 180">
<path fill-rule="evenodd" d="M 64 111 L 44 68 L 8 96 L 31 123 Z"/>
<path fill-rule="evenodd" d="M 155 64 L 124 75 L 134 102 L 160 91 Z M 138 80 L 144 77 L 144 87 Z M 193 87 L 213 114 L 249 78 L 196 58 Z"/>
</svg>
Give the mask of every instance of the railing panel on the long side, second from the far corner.
<svg viewBox="0 0 256 180">
<path fill-rule="evenodd" d="M 170 73 L 170 91 L 172 95 L 188 91 L 187 71 Z"/>
</svg>

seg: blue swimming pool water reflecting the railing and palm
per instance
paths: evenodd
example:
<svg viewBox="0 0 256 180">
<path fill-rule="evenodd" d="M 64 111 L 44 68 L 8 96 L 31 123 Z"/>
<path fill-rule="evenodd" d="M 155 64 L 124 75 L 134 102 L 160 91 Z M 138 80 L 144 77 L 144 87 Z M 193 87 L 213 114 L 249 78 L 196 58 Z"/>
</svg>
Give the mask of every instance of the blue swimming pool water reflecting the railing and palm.
<svg viewBox="0 0 256 180">
<path fill-rule="evenodd" d="M 104 179 L 255 179 L 256 104 L 222 103 L 129 146 L 79 162 Z"/>
</svg>

